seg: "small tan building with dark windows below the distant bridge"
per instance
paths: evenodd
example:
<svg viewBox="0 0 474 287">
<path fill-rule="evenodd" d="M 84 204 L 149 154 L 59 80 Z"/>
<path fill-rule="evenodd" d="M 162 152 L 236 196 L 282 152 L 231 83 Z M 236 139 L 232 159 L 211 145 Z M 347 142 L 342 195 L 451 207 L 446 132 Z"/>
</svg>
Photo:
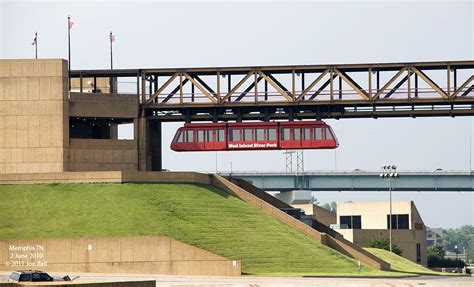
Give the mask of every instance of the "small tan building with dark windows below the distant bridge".
<svg viewBox="0 0 474 287">
<path fill-rule="evenodd" d="M 365 247 L 372 238 L 389 238 L 390 203 L 363 202 L 337 204 L 337 232 Z M 392 241 L 402 256 L 427 265 L 426 227 L 413 201 L 392 202 Z"/>
</svg>

